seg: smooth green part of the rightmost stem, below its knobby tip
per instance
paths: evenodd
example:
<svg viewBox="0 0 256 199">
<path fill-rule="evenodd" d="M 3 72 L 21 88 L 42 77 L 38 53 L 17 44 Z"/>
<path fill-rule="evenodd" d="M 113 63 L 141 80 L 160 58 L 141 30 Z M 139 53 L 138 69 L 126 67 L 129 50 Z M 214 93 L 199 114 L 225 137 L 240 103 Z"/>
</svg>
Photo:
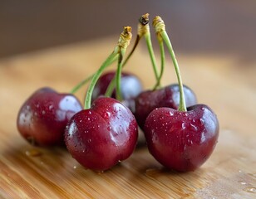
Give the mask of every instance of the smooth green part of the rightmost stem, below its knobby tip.
<svg viewBox="0 0 256 199">
<path fill-rule="evenodd" d="M 165 31 L 160 32 L 161 36 L 163 37 L 163 40 L 165 41 L 165 44 L 170 52 L 170 56 L 171 59 L 174 63 L 175 66 L 175 72 L 178 78 L 178 83 L 179 83 L 179 87 L 180 87 L 180 105 L 179 105 L 179 110 L 180 111 L 187 111 L 186 108 L 186 104 L 185 104 L 185 96 L 184 96 L 184 91 L 183 91 L 183 84 L 182 84 L 182 80 L 181 80 L 181 75 L 180 75 L 180 67 L 178 65 L 178 61 L 176 60 L 176 56 L 175 56 L 175 51 L 173 50 L 173 47 L 171 45 L 169 36 L 167 35 L 167 33 Z"/>
</svg>

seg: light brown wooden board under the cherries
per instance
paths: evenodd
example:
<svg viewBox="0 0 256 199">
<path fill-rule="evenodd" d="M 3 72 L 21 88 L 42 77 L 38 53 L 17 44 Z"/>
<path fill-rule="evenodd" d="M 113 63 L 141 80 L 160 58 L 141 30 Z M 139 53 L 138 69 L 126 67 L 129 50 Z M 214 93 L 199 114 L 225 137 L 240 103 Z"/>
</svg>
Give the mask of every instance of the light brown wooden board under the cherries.
<svg viewBox="0 0 256 199">
<path fill-rule="evenodd" d="M 0 61 L 1 198 L 255 198 L 256 61 L 236 56 L 178 54 L 183 81 L 218 115 L 219 143 L 195 172 L 171 172 L 145 146 L 104 173 L 81 167 L 64 148 L 35 148 L 17 132 L 17 111 L 34 90 L 68 92 L 106 59 L 117 36 Z M 168 56 L 169 57 L 169 56 Z M 158 61 L 160 56 L 158 56 Z M 114 67 L 114 66 L 112 66 Z M 126 70 L 154 83 L 140 46 Z M 167 60 L 163 85 L 176 82 Z M 77 93 L 82 100 L 86 87 Z"/>
</svg>

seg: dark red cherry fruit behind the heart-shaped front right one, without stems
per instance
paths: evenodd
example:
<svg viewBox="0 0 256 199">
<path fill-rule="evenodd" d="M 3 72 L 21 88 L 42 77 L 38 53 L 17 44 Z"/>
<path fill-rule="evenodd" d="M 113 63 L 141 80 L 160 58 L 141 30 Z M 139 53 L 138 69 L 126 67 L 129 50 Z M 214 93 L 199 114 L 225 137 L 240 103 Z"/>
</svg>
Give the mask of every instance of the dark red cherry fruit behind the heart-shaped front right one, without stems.
<svg viewBox="0 0 256 199">
<path fill-rule="evenodd" d="M 197 103 L 194 92 L 188 87 L 183 87 L 185 103 L 191 106 Z M 180 105 L 180 89 L 178 84 L 167 85 L 160 90 L 146 90 L 135 98 L 135 118 L 144 129 L 145 119 L 155 108 L 169 107 L 178 109 Z"/>
</svg>

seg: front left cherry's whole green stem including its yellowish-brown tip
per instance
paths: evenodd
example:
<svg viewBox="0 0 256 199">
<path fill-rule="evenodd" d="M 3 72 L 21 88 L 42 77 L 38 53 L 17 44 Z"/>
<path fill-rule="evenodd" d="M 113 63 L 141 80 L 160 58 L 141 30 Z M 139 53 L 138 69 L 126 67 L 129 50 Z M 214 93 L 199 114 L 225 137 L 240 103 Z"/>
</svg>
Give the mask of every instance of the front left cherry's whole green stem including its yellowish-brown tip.
<svg viewBox="0 0 256 199">
<path fill-rule="evenodd" d="M 97 80 L 99 80 L 103 70 L 106 69 L 106 66 L 109 66 L 114 60 L 116 60 L 117 56 L 119 56 L 119 60 L 120 60 L 120 56 L 124 51 L 126 51 L 127 46 L 129 46 L 130 44 L 131 36 L 132 36 L 131 27 L 124 27 L 124 30 L 121 33 L 121 36 L 119 37 L 115 50 L 111 53 L 110 56 L 106 58 L 106 61 L 103 62 L 99 70 L 96 71 L 96 73 L 93 75 L 91 79 L 91 84 L 89 85 L 89 88 L 86 93 L 85 106 L 84 106 L 85 109 L 91 108 L 91 95 L 96 85 L 96 82 Z"/>
</svg>

